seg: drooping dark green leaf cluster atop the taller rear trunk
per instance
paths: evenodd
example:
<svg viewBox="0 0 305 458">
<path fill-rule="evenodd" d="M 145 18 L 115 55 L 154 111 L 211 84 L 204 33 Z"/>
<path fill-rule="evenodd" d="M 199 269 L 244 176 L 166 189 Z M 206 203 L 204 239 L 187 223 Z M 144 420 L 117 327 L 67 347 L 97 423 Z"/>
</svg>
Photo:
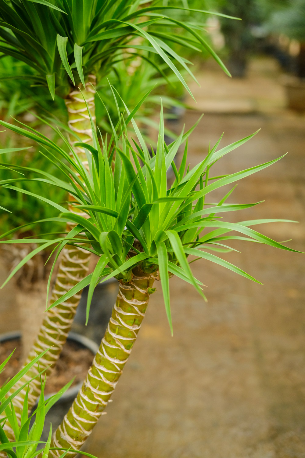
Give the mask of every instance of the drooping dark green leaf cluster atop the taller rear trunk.
<svg viewBox="0 0 305 458">
<path fill-rule="evenodd" d="M 188 73 L 187 60 L 168 43 L 184 48 L 209 50 L 222 68 L 225 66 L 198 32 L 198 25 L 168 16 L 172 10 L 193 11 L 183 6 L 163 6 L 159 0 L 141 7 L 140 0 L 0 0 L 0 52 L 30 65 L 31 79 L 65 97 L 71 86 L 85 84 L 90 74 L 105 76 L 112 65 L 127 55 L 148 52 L 171 68 L 187 87 L 173 60 Z M 196 10 L 199 11 L 200 10 Z M 209 13 L 209 11 L 201 11 Z M 217 13 L 211 13 L 217 14 Z M 165 25 L 166 32 L 158 29 Z M 179 29 L 187 36 L 181 36 Z M 141 37 L 140 44 L 133 42 Z M 131 48 L 132 46 L 132 48 Z M 193 75 L 192 75 L 193 76 Z"/>
</svg>

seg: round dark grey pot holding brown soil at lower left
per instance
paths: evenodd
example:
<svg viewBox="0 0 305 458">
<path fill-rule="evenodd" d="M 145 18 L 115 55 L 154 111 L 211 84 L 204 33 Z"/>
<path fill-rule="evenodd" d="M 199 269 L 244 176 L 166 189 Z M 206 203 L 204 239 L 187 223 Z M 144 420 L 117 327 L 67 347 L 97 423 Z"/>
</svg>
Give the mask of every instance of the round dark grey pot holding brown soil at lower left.
<svg viewBox="0 0 305 458">
<path fill-rule="evenodd" d="M 1 334 L 0 335 L 0 343 L 6 342 L 8 340 L 15 340 L 15 339 L 20 339 L 21 338 L 21 333 L 19 331 L 16 332 L 11 332 L 11 333 L 6 333 L 6 334 Z M 96 354 L 98 350 L 98 345 L 93 342 L 91 339 L 87 338 L 86 336 L 82 336 L 80 334 L 76 333 L 69 333 L 68 342 L 73 343 L 77 345 L 79 349 L 88 349 L 92 353 L 92 360 L 94 355 Z M 91 361 L 90 361 L 91 363 Z M 9 363 L 8 363 L 9 364 Z M 66 383 L 69 382 L 69 380 L 66 381 Z M 62 396 L 61 398 L 52 406 L 52 408 L 48 411 L 46 417 L 45 417 L 45 423 L 43 427 L 43 434 L 41 436 L 42 441 L 47 441 L 48 439 L 48 433 L 50 429 L 50 423 L 52 423 L 52 430 L 55 431 L 57 426 L 60 424 L 62 419 L 64 418 L 64 415 L 67 413 L 69 410 L 74 398 L 76 397 L 77 393 L 80 390 L 80 387 L 82 386 L 83 381 L 78 382 L 74 386 L 70 387 Z M 55 393 L 50 393 L 45 395 L 45 399 L 50 398 L 53 396 Z M 36 406 L 33 408 L 33 410 L 36 409 Z"/>
</svg>

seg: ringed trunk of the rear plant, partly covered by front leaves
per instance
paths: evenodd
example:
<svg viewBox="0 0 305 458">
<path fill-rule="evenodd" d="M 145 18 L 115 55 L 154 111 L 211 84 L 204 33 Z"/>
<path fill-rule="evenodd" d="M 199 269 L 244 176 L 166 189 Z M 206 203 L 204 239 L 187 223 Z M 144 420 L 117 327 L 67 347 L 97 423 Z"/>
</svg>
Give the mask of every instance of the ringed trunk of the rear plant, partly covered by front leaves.
<svg viewBox="0 0 305 458">
<path fill-rule="evenodd" d="M 69 97 L 65 100 L 68 114 L 69 114 L 69 127 L 72 131 L 77 133 L 82 142 L 91 143 L 92 142 L 92 130 L 91 122 L 86 107 L 90 109 L 92 119 L 95 120 L 95 104 L 94 104 L 94 88 L 91 86 L 95 84 L 95 76 L 90 76 L 89 81 L 86 83 L 86 88 L 82 87 L 82 91 L 79 89 L 74 89 Z M 86 103 L 84 101 L 86 100 Z M 75 138 L 70 138 L 70 144 L 73 147 L 73 144 L 76 142 Z M 87 158 L 84 150 L 76 147 L 75 152 L 78 154 L 78 157 L 87 165 Z M 71 201 L 74 200 L 73 196 L 69 196 Z M 73 207 L 69 205 L 70 211 L 73 210 Z M 81 213 L 83 215 L 83 213 Z M 87 216 L 87 215 L 83 215 Z M 70 231 L 73 225 L 68 224 L 67 230 Z M 66 246 L 62 251 L 62 257 L 59 263 L 57 278 L 54 283 L 52 290 L 52 296 L 50 304 L 53 304 L 58 300 L 63 294 L 69 291 L 75 284 L 77 284 L 82 278 L 86 276 L 88 270 L 88 263 L 90 260 L 90 253 L 86 251 L 85 247 L 76 247 L 76 246 Z M 31 360 L 33 360 L 37 354 L 41 353 L 43 350 L 48 347 L 52 347 L 48 353 L 44 355 L 43 358 L 39 360 L 39 365 L 35 364 L 32 366 L 31 370 L 23 376 L 18 383 L 14 386 L 11 392 L 16 391 L 24 383 L 28 382 L 32 377 L 36 376 L 40 371 L 46 369 L 46 376 L 52 371 L 56 361 L 59 358 L 61 349 L 66 342 L 68 333 L 70 331 L 77 305 L 79 304 L 81 296 L 81 291 L 78 294 L 70 297 L 69 300 L 62 302 L 53 309 L 44 313 L 43 323 L 39 329 L 39 333 L 34 340 L 32 349 L 25 361 L 24 365 L 27 365 Z M 33 380 L 29 386 L 28 393 L 28 405 L 29 410 L 34 406 L 38 396 L 40 395 L 40 380 L 39 377 Z M 11 392 L 9 394 L 11 394 Z M 18 393 L 17 396 L 13 399 L 13 405 L 16 411 L 17 419 L 20 420 L 21 411 L 24 403 L 25 394 L 27 392 L 27 387 Z M 5 432 L 12 440 L 14 435 L 11 429 L 11 426 L 8 422 L 5 423 Z M 0 453 L 0 457 L 5 456 Z"/>
</svg>

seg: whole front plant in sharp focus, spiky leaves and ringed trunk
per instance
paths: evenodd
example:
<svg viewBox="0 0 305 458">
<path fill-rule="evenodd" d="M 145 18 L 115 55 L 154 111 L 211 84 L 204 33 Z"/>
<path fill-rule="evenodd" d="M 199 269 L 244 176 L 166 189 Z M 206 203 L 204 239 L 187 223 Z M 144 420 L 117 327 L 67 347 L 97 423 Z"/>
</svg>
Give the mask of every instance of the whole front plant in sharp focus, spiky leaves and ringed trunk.
<svg viewBox="0 0 305 458">
<path fill-rule="evenodd" d="M 74 170 L 71 170 L 69 175 L 68 166 L 64 162 L 58 164 L 60 168 L 66 169 L 67 178 L 70 177 L 69 189 L 74 199 L 73 211 L 71 208 L 67 211 L 57 205 L 57 208 L 62 211 L 59 218 L 74 224 L 70 233 L 59 236 L 56 240 L 26 241 L 40 244 L 36 252 L 56 244 L 57 256 L 59 256 L 59 252 L 66 245 L 83 246 L 86 237 L 87 244 L 83 249 L 99 256 L 94 272 L 80 280 L 69 292 L 51 304 L 49 310 L 59 305 L 60 301 L 69 300 L 71 296 L 78 294 L 86 285 L 90 285 L 87 301 L 88 316 L 96 285 L 112 277 L 119 281 L 118 298 L 107 331 L 80 392 L 54 433 L 52 450 L 49 452 L 51 457 L 60 456 L 62 448 L 71 447 L 71 450 L 78 450 L 106 408 L 137 338 L 150 294 L 154 292 L 155 280 L 161 280 L 166 314 L 172 329 L 170 275 L 177 275 L 192 284 L 204 298 L 203 284 L 194 278 L 190 268 L 190 255 L 196 256 L 197 259 L 215 262 L 257 282 L 239 267 L 213 254 L 213 251 L 219 251 L 219 247 L 230 251 L 230 246 L 226 244 L 229 240 L 235 239 L 256 241 L 282 250 L 295 251 L 250 227 L 283 220 L 263 219 L 233 224 L 219 219 L 219 216 L 225 215 L 226 212 L 242 210 L 259 203 L 241 205 L 226 203 L 234 188 L 217 204 L 206 203 L 205 199 L 209 192 L 265 169 L 278 160 L 222 177 L 211 174 L 212 166 L 216 161 L 255 134 L 218 149 L 220 138 L 206 157 L 190 169 L 187 167 L 187 139 L 195 126 L 186 133 L 182 131 L 177 140 L 166 146 L 161 110 L 157 149 L 155 155 L 151 157 L 133 120 L 136 109 L 129 114 L 126 107 L 126 111 L 128 113 L 126 124 L 130 120 L 133 122 L 137 140 L 133 143 L 129 141 L 126 124 L 121 118 L 121 125 L 118 125 L 119 133 L 114 128 L 113 135 L 107 142 L 103 142 L 101 138 L 101 147 L 91 120 L 94 146 L 79 143 L 80 147 L 91 151 L 91 156 L 88 155 L 88 167 L 81 162 L 73 163 L 68 153 L 38 132 L 33 134 L 32 131 L 26 131 L 21 127 L 0 122 L 1 125 L 24 136 L 33 138 L 35 135 L 35 140 L 48 150 L 48 157 L 54 160 L 55 156 L 52 152 L 60 153 L 62 158 L 70 160 L 74 165 Z M 177 169 L 174 158 L 179 146 L 184 142 L 186 147 L 181 165 Z M 72 154 L 76 159 L 77 153 Z M 176 179 L 167 189 L 166 171 L 170 166 Z M 43 172 L 40 174 L 42 177 L 45 176 Z M 48 182 L 52 180 L 49 179 Z M 63 186 L 56 179 L 53 183 L 54 186 Z M 45 200 L 43 196 L 37 198 Z M 48 203 L 53 205 L 51 201 Z M 86 217 L 76 210 L 85 212 Z M 82 234 L 82 238 L 79 234 Z M 8 280 L 31 256 L 33 254 L 28 255 L 15 268 Z M 56 448 L 58 450 L 55 450 Z M 71 452 L 69 455 L 74 453 Z"/>
</svg>

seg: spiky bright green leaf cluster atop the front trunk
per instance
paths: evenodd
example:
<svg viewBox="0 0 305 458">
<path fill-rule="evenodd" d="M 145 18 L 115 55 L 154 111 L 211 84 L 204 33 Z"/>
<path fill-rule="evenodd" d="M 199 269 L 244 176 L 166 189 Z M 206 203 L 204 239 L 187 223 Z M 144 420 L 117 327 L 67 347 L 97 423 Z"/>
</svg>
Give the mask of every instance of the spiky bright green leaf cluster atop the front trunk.
<svg viewBox="0 0 305 458">
<path fill-rule="evenodd" d="M 114 91 L 113 97 L 116 100 Z M 73 155 L 71 157 L 69 153 L 46 136 L 0 121 L 1 125 L 27 136 L 47 148 L 48 158 L 54 160 L 54 163 L 57 163 L 57 166 L 64 170 L 70 184 L 58 180 L 55 176 L 53 178 L 47 176 L 43 171 L 40 173 L 43 178 L 40 177 L 37 180 L 53 183 L 55 186 L 69 190 L 75 198 L 75 207 L 88 213 L 88 217 L 85 218 L 80 214 L 68 212 L 66 208 L 55 204 L 45 196 L 37 195 L 38 199 L 62 212 L 59 218 L 54 219 L 75 223 L 75 227 L 70 230 L 69 234 L 64 237 L 59 236 L 56 240 L 27 239 L 26 241 L 35 241 L 41 246 L 20 262 L 8 280 L 36 252 L 57 244 L 57 259 L 66 244 L 82 244 L 84 239 L 79 238 L 78 234 L 85 232 L 91 244 L 91 248 L 88 250 L 99 256 L 96 268 L 93 273 L 81 280 L 58 301 L 55 301 L 51 307 L 68 299 L 90 284 L 87 303 L 87 312 L 89 312 L 93 290 L 99 282 L 112 277 L 123 282 L 129 281 L 133 276 L 133 268 L 139 266 L 146 273 L 159 271 L 166 312 L 171 326 L 170 274 L 177 275 L 182 280 L 192 284 L 204 298 L 203 284 L 194 278 L 189 265 L 190 255 L 196 256 L 197 259 L 203 258 L 215 262 L 243 277 L 257 281 L 239 267 L 210 253 L 210 251 L 231 251 L 232 248 L 226 243 L 228 240 L 234 239 L 249 240 L 295 251 L 250 228 L 255 224 L 283 220 L 251 220 L 233 224 L 225 222 L 221 218 L 223 213 L 249 208 L 259 202 L 227 204 L 226 200 L 234 188 L 217 203 L 206 201 L 206 197 L 211 191 L 265 169 L 278 159 L 233 174 L 211 176 L 210 169 L 216 161 L 247 142 L 255 134 L 218 149 L 220 138 L 214 147 L 209 149 L 203 160 L 190 169 L 189 166 L 187 167 L 187 139 L 196 125 L 185 133 L 182 131 L 177 140 L 166 146 L 161 109 L 156 153 L 150 154 L 133 119 L 136 109 L 129 113 L 128 108 L 125 108 L 128 113 L 127 123 L 129 121 L 133 123 L 137 139 L 133 142 L 128 139 L 123 117 L 121 117 L 121 124 L 118 123 L 116 127 L 110 120 L 113 133 L 106 141 L 103 141 L 102 137 L 97 138 L 91 120 L 94 146 L 81 142 L 76 143 L 76 146 L 86 149 L 89 168 L 80 162 L 73 151 L 70 152 Z M 177 169 L 174 159 L 179 147 L 184 142 L 186 142 L 186 147 L 180 167 Z M 54 152 L 59 153 L 70 164 L 72 170 L 64 161 L 58 162 Z M 167 189 L 166 172 L 170 167 L 175 174 L 175 181 Z M 4 180 L 2 185 L 19 189 L 12 185 L 16 180 Z M 24 180 L 24 178 L 18 180 Z M 29 194 L 21 189 L 19 191 Z M 238 235 L 230 234 L 232 231 L 237 232 Z M 3 234 L 2 238 L 7 235 Z M 24 242 L 24 240 L 21 241 Z"/>
</svg>

